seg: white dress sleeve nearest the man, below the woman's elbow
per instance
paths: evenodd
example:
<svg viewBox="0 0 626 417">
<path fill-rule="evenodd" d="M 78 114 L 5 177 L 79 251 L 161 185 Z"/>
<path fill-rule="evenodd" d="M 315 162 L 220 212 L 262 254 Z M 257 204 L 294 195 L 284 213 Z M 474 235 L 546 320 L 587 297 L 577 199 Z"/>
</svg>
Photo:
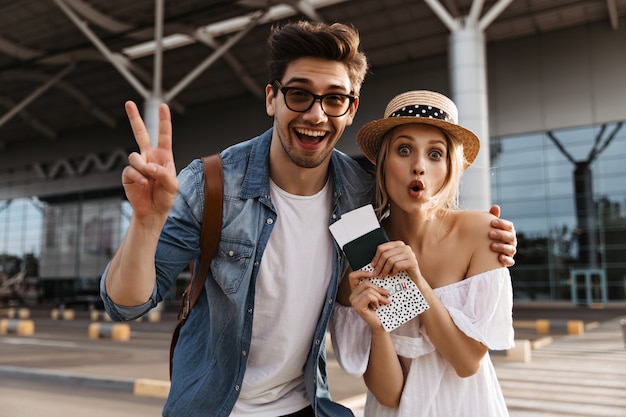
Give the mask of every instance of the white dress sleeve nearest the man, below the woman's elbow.
<svg viewBox="0 0 626 417">
<path fill-rule="evenodd" d="M 361 376 L 367 369 L 372 329 L 351 306 L 335 304 L 329 323 L 333 353 L 347 373 Z"/>
</svg>

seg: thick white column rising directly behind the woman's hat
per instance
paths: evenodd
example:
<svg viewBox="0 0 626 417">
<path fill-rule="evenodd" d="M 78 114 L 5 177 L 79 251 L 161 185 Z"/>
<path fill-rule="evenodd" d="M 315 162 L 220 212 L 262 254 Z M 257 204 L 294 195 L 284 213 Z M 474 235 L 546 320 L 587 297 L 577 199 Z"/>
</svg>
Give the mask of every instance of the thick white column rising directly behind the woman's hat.
<svg viewBox="0 0 626 417">
<path fill-rule="evenodd" d="M 489 115 L 485 39 L 477 27 L 465 27 L 450 35 L 450 83 L 452 100 L 459 109 L 459 124 L 480 138 L 480 152 L 463 174 L 460 205 L 487 211 L 491 206 Z"/>
</svg>

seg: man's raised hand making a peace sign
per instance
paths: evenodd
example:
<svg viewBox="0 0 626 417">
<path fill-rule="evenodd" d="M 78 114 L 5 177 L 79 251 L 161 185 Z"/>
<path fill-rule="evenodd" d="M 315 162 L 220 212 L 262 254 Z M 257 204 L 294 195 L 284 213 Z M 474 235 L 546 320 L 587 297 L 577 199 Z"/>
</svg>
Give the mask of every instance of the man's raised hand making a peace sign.
<svg viewBox="0 0 626 417">
<path fill-rule="evenodd" d="M 137 105 L 127 101 L 125 107 L 140 153 L 128 156 L 130 165 L 122 172 L 122 185 L 136 219 L 163 224 L 178 192 L 170 109 L 166 104 L 159 106 L 159 139 L 153 147 Z"/>
</svg>

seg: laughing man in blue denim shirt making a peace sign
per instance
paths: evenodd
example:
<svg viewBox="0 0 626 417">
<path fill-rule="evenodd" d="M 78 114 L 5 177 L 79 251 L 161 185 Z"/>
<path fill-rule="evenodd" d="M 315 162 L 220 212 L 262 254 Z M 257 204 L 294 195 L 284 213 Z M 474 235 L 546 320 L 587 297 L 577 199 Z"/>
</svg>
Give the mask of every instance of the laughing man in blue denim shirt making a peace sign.
<svg viewBox="0 0 626 417">
<path fill-rule="evenodd" d="M 373 198 L 372 178 L 334 149 L 367 61 L 341 24 L 288 24 L 268 44 L 273 127 L 221 152 L 219 250 L 180 333 L 164 416 L 352 415 L 328 392 L 324 337 L 347 268 L 328 226 Z M 126 110 L 141 153 L 122 175 L 133 216 L 102 279 L 115 320 L 156 306 L 198 257 L 204 199 L 199 160 L 176 177 L 167 106 L 156 147 L 135 104 Z M 499 222 L 495 251 L 512 265 L 513 226 Z"/>
</svg>

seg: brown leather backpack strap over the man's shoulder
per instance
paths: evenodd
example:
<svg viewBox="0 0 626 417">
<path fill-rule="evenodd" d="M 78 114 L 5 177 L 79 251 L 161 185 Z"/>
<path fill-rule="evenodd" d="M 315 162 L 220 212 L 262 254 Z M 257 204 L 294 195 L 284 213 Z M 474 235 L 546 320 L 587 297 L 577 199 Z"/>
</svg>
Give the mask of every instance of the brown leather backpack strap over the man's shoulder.
<svg viewBox="0 0 626 417">
<path fill-rule="evenodd" d="M 189 312 L 196 304 L 204 281 L 209 273 L 211 259 L 215 256 L 220 241 L 222 230 L 222 206 L 224 202 L 224 171 L 222 169 L 222 159 L 219 153 L 202 157 L 204 168 L 204 213 L 202 215 L 202 231 L 200 232 L 200 268 L 194 274 L 193 262 L 189 266 L 191 279 L 181 300 L 178 311 L 178 324 L 172 334 L 170 345 L 170 379 L 172 379 L 172 360 L 174 359 L 174 348 L 178 342 L 178 335 L 181 327 L 187 321 Z"/>
</svg>

